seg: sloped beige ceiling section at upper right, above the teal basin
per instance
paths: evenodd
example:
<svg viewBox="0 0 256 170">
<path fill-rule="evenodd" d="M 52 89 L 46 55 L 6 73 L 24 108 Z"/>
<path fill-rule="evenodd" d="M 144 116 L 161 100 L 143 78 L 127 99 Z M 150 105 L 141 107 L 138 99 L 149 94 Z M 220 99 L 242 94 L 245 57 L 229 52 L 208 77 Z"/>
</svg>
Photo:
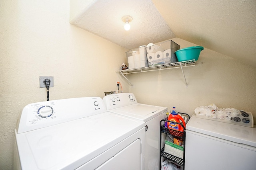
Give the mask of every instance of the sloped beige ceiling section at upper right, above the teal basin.
<svg viewBox="0 0 256 170">
<path fill-rule="evenodd" d="M 256 0 L 152 0 L 175 36 L 256 67 Z"/>
</svg>

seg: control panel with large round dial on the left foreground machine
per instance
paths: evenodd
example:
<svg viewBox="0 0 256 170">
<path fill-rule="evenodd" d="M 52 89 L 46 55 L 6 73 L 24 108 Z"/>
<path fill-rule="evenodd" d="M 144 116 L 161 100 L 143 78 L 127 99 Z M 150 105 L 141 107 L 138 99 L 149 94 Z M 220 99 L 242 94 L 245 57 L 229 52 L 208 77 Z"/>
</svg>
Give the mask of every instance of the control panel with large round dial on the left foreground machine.
<svg viewBox="0 0 256 170">
<path fill-rule="evenodd" d="M 106 112 L 99 97 L 71 98 L 28 104 L 20 113 L 17 133 Z"/>
</svg>

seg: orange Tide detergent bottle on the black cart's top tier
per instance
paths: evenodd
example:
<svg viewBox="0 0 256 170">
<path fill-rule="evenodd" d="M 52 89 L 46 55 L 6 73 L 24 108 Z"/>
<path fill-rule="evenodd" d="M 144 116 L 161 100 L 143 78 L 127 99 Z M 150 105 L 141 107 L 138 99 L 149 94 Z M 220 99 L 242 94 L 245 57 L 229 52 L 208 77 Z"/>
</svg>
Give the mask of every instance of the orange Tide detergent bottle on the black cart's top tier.
<svg viewBox="0 0 256 170">
<path fill-rule="evenodd" d="M 180 115 L 178 115 L 178 113 L 175 112 L 175 110 L 172 110 L 172 112 L 170 113 L 170 115 L 168 117 L 168 120 L 172 121 L 172 122 L 169 122 L 169 121 L 167 122 L 168 129 L 173 129 L 176 131 L 183 132 L 184 128 L 182 127 L 182 125 L 178 124 L 181 122 L 183 123 L 184 127 L 186 128 L 184 119 L 182 119 L 182 117 Z M 178 123 L 174 123 L 174 122 L 178 122 Z"/>
</svg>

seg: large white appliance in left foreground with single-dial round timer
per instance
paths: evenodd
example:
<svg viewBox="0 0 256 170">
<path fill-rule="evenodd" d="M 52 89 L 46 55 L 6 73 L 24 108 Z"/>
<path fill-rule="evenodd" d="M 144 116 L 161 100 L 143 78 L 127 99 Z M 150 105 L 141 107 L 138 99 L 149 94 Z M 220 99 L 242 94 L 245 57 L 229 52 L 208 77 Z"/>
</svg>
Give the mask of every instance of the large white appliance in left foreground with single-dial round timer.
<svg viewBox="0 0 256 170">
<path fill-rule="evenodd" d="M 15 129 L 14 169 L 144 169 L 145 123 L 106 111 L 99 97 L 29 104 Z"/>
</svg>

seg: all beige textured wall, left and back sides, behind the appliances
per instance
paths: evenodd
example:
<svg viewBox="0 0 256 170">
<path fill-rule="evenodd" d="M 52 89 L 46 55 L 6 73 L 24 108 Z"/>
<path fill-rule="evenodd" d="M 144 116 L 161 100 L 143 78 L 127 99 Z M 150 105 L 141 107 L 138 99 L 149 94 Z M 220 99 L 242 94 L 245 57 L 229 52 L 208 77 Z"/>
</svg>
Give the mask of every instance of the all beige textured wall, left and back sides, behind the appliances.
<svg viewBox="0 0 256 170">
<path fill-rule="evenodd" d="M 173 39 L 181 48 L 191 44 Z M 204 49 L 197 65 L 128 76 L 117 70 L 125 59 L 122 47 L 69 24 L 69 0 L 1 0 L 0 2 L 0 169 L 12 169 L 14 128 L 20 110 L 46 100 L 39 76 L 54 76 L 50 100 L 133 92 L 140 103 L 176 106 L 194 113 L 211 103 L 254 113 L 256 68 Z M 231 56 L 232 57 L 232 56 Z M 202 62 L 202 64 L 200 64 Z"/>
</svg>

